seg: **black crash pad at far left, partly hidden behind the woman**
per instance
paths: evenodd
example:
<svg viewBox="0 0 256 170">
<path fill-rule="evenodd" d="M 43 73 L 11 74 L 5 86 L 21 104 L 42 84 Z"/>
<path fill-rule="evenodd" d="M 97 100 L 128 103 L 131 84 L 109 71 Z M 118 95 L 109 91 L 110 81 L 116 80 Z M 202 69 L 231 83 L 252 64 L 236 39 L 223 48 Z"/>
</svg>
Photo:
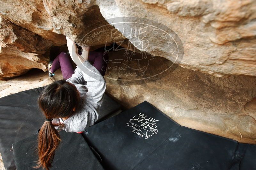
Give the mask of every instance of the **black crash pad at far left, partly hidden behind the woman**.
<svg viewBox="0 0 256 170">
<path fill-rule="evenodd" d="M 35 134 L 45 121 L 37 105 L 38 96 L 45 87 L 0 98 L 0 152 L 6 169 L 15 169 L 13 152 L 10 151 L 12 144 Z M 99 121 L 120 108 L 119 103 L 105 94 Z"/>
</svg>

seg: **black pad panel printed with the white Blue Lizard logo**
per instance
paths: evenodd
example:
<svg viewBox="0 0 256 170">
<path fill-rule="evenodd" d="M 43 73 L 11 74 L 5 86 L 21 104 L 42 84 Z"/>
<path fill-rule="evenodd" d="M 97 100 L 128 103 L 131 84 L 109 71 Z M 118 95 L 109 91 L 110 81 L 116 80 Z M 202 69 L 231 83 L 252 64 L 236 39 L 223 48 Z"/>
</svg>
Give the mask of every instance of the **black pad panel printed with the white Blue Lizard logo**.
<svg viewBox="0 0 256 170">
<path fill-rule="evenodd" d="M 151 117 L 150 119 L 159 120 L 153 122 L 157 126 L 153 127 L 155 130 L 157 129 L 157 134 L 146 139 L 145 135 L 142 137 L 136 134 L 136 130 L 127 126 L 128 124 L 133 125 L 132 123 L 135 121 L 130 123 L 130 119 L 134 116 L 138 118 L 139 113 L 146 115 L 146 119 Z M 145 121 L 139 121 L 145 123 Z M 140 122 L 139 125 L 142 124 Z M 135 127 L 135 125 L 133 126 Z M 143 102 L 115 117 L 89 127 L 85 138 L 100 154 L 106 169 L 130 170 L 158 149 L 179 127 L 181 127 L 179 124 L 154 106 Z M 145 133 L 145 131 L 143 132 Z M 143 134 L 140 131 L 138 133 Z M 148 131 L 148 134 L 152 134 L 152 132 Z"/>
</svg>

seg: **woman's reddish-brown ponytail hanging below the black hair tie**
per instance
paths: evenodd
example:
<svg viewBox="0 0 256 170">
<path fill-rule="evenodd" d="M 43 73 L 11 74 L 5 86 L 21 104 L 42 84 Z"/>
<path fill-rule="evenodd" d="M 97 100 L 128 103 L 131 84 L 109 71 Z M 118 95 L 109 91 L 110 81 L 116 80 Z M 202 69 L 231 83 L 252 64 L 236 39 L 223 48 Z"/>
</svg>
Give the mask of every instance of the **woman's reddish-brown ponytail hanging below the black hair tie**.
<svg viewBox="0 0 256 170">
<path fill-rule="evenodd" d="M 49 170 L 54 157 L 55 150 L 61 141 L 58 131 L 50 121 L 45 121 L 38 133 L 38 156 L 37 166 L 34 168 L 43 167 Z"/>
</svg>

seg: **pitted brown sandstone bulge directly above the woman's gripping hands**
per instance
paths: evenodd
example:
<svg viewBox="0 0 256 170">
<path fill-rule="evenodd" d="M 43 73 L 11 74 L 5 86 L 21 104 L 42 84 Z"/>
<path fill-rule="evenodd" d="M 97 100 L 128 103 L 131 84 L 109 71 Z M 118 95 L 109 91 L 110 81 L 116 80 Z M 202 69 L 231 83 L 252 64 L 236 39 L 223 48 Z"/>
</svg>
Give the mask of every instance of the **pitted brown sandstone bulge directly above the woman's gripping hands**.
<svg viewBox="0 0 256 170">
<path fill-rule="evenodd" d="M 115 29 L 102 17 L 95 1 L 63 3 L 63 1 L 43 0 L 43 3 L 54 29 L 80 46 L 104 46 L 105 43 L 113 42 L 111 32 Z"/>
</svg>

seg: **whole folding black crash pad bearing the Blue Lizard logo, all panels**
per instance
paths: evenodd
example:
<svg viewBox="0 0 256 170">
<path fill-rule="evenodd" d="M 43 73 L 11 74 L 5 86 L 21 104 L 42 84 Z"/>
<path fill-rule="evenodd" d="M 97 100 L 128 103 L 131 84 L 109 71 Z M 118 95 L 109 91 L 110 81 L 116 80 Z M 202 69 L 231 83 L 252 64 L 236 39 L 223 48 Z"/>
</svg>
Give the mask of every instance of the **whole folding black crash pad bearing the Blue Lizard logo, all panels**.
<svg viewBox="0 0 256 170">
<path fill-rule="evenodd" d="M 254 145 L 248 150 L 235 140 L 183 127 L 147 101 L 83 135 L 109 170 L 228 170 L 236 162 L 255 169 Z"/>
</svg>

